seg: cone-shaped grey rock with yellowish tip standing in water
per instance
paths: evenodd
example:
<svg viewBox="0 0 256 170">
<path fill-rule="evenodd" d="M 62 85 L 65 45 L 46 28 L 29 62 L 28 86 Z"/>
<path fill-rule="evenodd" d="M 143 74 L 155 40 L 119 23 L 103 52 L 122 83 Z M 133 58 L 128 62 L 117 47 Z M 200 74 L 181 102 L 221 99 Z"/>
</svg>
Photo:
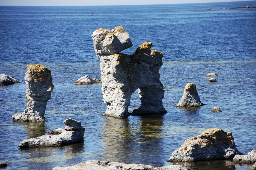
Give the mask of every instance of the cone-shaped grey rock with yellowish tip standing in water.
<svg viewBox="0 0 256 170">
<path fill-rule="evenodd" d="M 193 83 L 186 84 L 182 98 L 176 107 L 195 107 L 204 105 L 199 98 L 196 85 Z"/>
</svg>

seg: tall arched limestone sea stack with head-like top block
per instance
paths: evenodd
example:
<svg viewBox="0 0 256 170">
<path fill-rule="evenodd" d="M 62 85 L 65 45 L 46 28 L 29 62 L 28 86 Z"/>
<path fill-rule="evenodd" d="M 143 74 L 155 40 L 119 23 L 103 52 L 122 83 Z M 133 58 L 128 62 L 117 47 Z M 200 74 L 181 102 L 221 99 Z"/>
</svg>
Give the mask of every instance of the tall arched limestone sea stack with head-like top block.
<svg viewBox="0 0 256 170">
<path fill-rule="evenodd" d="M 105 115 L 124 118 L 129 116 L 131 95 L 139 89 L 141 106 L 132 114 L 166 113 L 162 99 L 163 84 L 158 73 L 163 65 L 163 53 L 150 50 L 145 42 L 132 55 L 120 53 L 132 47 L 130 36 L 122 27 L 97 29 L 92 34 L 93 45 L 100 59 Z"/>
</svg>

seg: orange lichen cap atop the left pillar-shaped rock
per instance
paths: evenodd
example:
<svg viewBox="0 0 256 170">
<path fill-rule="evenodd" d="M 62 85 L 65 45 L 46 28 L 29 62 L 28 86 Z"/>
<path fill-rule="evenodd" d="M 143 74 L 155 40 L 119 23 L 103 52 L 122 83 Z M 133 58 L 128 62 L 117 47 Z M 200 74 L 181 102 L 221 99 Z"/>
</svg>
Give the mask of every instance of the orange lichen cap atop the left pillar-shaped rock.
<svg viewBox="0 0 256 170">
<path fill-rule="evenodd" d="M 42 79 L 46 79 L 51 75 L 51 70 L 48 69 L 46 66 L 37 64 L 37 65 L 27 65 L 25 66 L 27 69 L 27 73 L 29 74 L 29 78 L 34 82 L 39 82 Z M 46 71 L 46 72 L 45 72 Z"/>
</svg>

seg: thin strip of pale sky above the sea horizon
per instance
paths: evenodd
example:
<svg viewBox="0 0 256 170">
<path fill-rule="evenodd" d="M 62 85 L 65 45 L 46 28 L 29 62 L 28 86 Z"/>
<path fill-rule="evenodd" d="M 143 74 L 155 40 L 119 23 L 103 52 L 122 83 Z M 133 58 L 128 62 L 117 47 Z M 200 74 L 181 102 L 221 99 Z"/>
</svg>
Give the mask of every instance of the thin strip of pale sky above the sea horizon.
<svg viewBox="0 0 256 170">
<path fill-rule="evenodd" d="M 243 0 L 0 0 L 0 5 L 17 6 L 90 6 L 90 5 L 146 5 L 231 2 Z"/>
</svg>

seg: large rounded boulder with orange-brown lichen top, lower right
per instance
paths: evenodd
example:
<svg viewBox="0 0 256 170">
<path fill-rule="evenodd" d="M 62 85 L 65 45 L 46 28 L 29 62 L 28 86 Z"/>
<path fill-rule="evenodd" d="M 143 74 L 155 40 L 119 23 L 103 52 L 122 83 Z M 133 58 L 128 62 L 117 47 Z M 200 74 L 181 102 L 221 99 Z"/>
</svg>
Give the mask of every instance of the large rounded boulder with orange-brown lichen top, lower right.
<svg viewBox="0 0 256 170">
<path fill-rule="evenodd" d="M 184 144 L 174 151 L 167 161 L 232 159 L 237 154 L 242 155 L 236 148 L 232 132 L 208 129 L 198 136 L 185 140 Z"/>
</svg>

